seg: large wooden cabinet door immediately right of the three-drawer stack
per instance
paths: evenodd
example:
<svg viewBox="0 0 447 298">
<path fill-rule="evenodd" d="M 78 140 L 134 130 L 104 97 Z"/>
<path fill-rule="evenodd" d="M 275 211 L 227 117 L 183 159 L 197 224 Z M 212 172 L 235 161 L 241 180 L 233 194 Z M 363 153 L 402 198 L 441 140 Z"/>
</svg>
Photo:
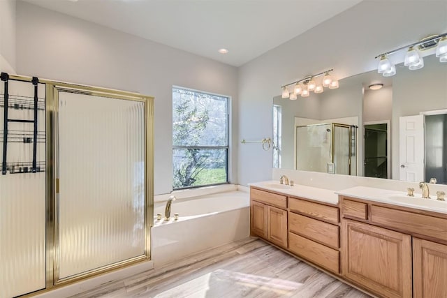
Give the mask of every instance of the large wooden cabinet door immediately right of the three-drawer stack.
<svg viewBox="0 0 447 298">
<path fill-rule="evenodd" d="M 411 297 L 411 236 L 343 220 L 342 275 L 383 297 Z"/>
</svg>

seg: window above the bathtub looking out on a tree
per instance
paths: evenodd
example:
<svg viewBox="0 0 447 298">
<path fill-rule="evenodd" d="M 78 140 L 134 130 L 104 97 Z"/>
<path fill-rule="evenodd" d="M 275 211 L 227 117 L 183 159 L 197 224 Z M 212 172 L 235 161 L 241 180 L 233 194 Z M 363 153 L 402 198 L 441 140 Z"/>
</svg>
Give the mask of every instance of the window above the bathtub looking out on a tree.
<svg viewBox="0 0 447 298">
<path fill-rule="evenodd" d="M 228 183 L 228 97 L 173 88 L 173 189 Z"/>
</svg>

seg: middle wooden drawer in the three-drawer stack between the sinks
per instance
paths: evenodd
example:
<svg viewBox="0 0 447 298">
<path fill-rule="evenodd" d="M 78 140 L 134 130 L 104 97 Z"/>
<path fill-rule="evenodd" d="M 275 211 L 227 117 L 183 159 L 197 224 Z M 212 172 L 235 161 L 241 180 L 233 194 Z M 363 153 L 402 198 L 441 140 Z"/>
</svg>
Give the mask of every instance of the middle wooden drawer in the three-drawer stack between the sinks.
<svg viewBox="0 0 447 298">
<path fill-rule="evenodd" d="M 288 231 L 339 248 L 339 226 L 288 212 Z"/>
</svg>

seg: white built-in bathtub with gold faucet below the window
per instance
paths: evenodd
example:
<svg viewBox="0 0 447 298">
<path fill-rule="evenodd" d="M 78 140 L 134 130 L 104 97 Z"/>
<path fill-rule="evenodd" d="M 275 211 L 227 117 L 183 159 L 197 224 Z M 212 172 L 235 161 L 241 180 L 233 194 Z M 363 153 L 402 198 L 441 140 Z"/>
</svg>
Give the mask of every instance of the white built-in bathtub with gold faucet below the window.
<svg viewBox="0 0 447 298">
<path fill-rule="evenodd" d="M 176 200 L 170 221 L 164 221 L 166 202 L 154 206 L 151 256 L 154 267 L 208 248 L 249 236 L 249 193 L 228 191 Z M 156 214 L 163 214 L 161 220 Z M 179 218 L 174 220 L 174 214 Z"/>
</svg>

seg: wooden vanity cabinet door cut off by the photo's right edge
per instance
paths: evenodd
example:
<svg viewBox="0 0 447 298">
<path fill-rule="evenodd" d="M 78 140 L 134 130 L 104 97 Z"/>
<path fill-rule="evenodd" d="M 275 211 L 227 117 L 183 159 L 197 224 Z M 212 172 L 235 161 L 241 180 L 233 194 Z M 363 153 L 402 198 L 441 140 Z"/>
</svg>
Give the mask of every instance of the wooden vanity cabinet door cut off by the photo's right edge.
<svg viewBox="0 0 447 298">
<path fill-rule="evenodd" d="M 415 298 L 447 297 L 447 246 L 413 238 Z"/>
</svg>

